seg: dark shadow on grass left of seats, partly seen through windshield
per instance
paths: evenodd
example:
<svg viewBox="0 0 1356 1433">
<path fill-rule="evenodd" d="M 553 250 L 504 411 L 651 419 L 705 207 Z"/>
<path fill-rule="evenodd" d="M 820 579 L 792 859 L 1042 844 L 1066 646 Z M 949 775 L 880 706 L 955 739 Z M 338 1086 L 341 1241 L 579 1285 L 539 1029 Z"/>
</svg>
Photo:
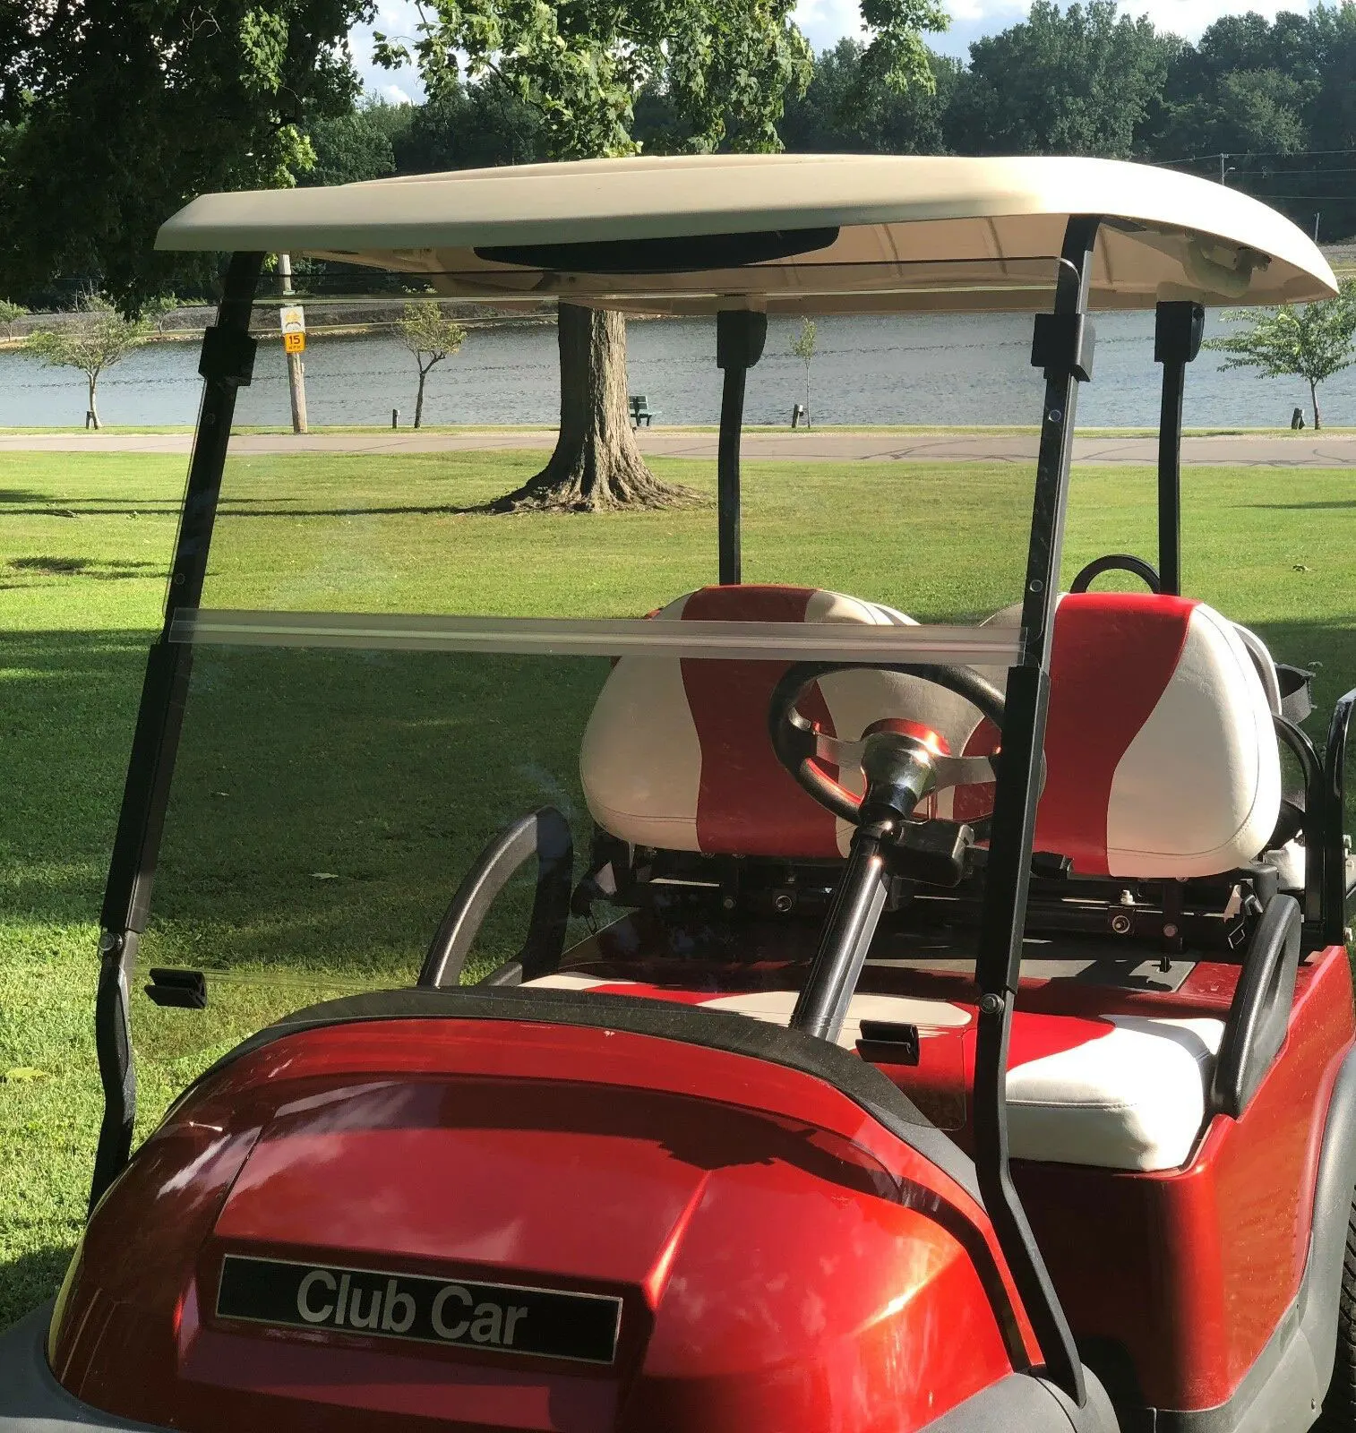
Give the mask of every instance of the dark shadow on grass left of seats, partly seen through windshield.
<svg viewBox="0 0 1356 1433">
<path fill-rule="evenodd" d="M 17 774 L 0 802 L 0 909 L 97 917 L 146 642 L 0 636 Z M 586 845 L 579 742 L 606 672 L 603 659 L 198 651 L 143 964 L 413 979 L 505 824 L 550 804 Z M 517 926 L 519 903 L 503 904 L 487 939 Z"/>
</svg>

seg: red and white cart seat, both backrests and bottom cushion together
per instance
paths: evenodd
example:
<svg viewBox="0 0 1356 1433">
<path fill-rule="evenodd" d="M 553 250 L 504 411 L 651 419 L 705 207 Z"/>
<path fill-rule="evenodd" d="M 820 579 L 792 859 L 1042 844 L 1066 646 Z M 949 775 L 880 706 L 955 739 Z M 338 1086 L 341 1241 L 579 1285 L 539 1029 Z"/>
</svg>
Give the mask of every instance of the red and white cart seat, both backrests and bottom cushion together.
<svg viewBox="0 0 1356 1433">
<path fill-rule="evenodd" d="M 791 588 L 708 588 L 656 613 L 685 618 L 910 620 L 840 593 Z M 846 853 L 850 830 L 806 795 L 771 751 L 767 705 L 784 669 L 621 661 L 582 749 L 595 820 L 622 840 L 667 850 Z M 952 751 L 993 742 L 973 708 L 903 674 L 834 674 L 801 709 L 847 739 L 890 719 L 937 732 Z M 1076 876 L 1224 874 L 1253 861 L 1276 825 L 1281 780 L 1271 702 L 1234 625 L 1200 602 L 1151 593 L 1064 598 L 1045 755 L 1036 847 L 1071 857 Z M 854 778 L 860 791 L 860 774 L 840 772 L 844 785 Z M 936 814 L 970 820 L 986 814 L 990 800 L 990 788 L 942 792 Z M 854 999 L 844 1043 L 856 1042 L 863 1017 L 947 1030 L 953 1012 L 965 1013 L 940 1006 L 929 1016 L 912 1010 L 929 1002 L 907 1002 L 910 1013 L 884 1015 L 874 1009 L 882 999 L 893 997 Z M 773 992 L 714 1003 L 784 1022 L 793 1002 L 793 993 Z M 1008 1079 L 1013 1155 L 1135 1171 L 1181 1165 L 1204 1121 L 1223 1029 L 1217 1019 L 1019 1012 Z"/>
</svg>

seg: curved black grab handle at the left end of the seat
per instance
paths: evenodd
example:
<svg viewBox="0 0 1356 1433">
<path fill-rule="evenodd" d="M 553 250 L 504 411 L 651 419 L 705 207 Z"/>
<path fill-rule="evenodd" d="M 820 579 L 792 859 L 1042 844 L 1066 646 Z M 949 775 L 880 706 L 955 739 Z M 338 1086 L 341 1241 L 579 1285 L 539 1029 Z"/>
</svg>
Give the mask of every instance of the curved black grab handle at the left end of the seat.
<svg viewBox="0 0 1356 1433">
<path fill-rule="evenodd" d="M 536 896 L 527 939 L 516 963 L 526 980 L 549 974 L 559 966 L 575 876 L 575 843 L 569 821 L 555 807 L 542 807 L 505 827 L 466 873 L 429 943 L 417 984 L 433 990 L 460 984 L 462 966 L 489 909 L 529 856 L 536 856 L 538 861 Z"/>
</svg>

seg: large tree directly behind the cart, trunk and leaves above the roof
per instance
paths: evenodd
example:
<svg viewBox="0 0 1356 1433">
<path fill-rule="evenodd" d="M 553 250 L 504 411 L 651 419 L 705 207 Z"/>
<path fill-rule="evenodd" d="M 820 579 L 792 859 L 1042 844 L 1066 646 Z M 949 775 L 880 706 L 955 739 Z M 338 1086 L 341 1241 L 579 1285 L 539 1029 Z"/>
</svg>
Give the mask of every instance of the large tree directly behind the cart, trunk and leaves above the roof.
<svg viewBox="0 0 1356 1433">
<path fill-rule="evenodd" d="M 635 153 L 636 97 L 662 92 L 667 148 L 780 148 L 787 95 L 804 90 L 810 49 L 793 0 L 426 0 L 419 67 L 437 100 L 460 83 L 497 82 L 540 119 L 552 159 Z M 929 83 L 919 27 L 943 29 L 936 0 L 866 0 L 872 67 L 903 89 Z M 378 59 L 409 50 L 378 36 Z M 645 466 L 626 407 L 626 328 L 621 315 L 575 304 L 558 310 L 560 436 L 550 461 L 502 506 L 602 512 L 694 500 Z"/>
</svg>

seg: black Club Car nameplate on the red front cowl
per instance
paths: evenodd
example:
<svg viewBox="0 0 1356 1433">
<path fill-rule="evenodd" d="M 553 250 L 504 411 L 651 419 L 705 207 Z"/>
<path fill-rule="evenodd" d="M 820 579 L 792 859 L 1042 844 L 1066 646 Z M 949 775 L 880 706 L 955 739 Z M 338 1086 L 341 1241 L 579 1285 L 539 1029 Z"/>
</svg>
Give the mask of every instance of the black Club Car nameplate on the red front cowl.
<svg viewBox="0 0 1356 1433">
<path fill-rule="evenodd" d="M 427 1278 L 228 1254 L 219 1318 L 612 1363 L 622 1301 L 606 1294 Z"/>
</svg>

